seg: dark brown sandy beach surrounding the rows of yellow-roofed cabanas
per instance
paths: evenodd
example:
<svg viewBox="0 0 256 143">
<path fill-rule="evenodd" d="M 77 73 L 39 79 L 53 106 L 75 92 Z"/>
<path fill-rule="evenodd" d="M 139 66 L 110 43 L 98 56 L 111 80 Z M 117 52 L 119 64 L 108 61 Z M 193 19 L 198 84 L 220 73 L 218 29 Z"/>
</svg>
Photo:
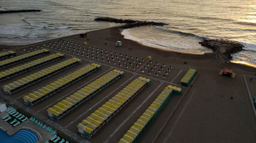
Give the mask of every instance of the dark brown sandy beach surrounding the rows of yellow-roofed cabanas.
<svg viewBox="0 0 256 143">
<path fill-rule="evenodd" d="M 127 105 L 127 108 L 120 112 L 120 115 L 114 118 L 108 125 L 106 125 L 94 138 L 88 139 L 89 142 L 118 142 L 119 139 L 122 138 L 124 133 L 131 127 L 132 123 L 137 120 L 141 113 L 150 105 L 150 103 L 155 99 L 155 97 L 164 89 L 165 86 L 168 85 L 168 82 L 180 85 L 179 80 L 185 74 L 185 71 L 189 68 L 196 69 L 198 71 L 198 77 L 195 79 L 193 85 L 188 89 L 186 95 L 183 100 L 177 106 L 170 120 L 168 120 L 167 125 L 162 128 L 163 123 L 167 119 L 167 117 L 173 111 L 173 108 L 176 106 L 177 102 L 180 100 L 180 97 L 174 95 L 173 100 L 171 99 L 163 108 L 163 110 L 158 114 L 158 116 L 153 120 L 152 124 L 146 131 L 141 135 L 138 139 L 138 142 L 254 142 L 256 140 L 256 116 L 254 113 L 254 109 L 252 108 L 251 101 L 254 96 L 256 96 L 256 69 L 252 67 L 243 66 L 240 64 L 234 63 L 219 63 L 216 60 L 215 55 L 213 53 L 206 53 L 203 55 L 196 54 L 187 54 L 173 51 L 161 50 L 159 48 L 152 48 L 149 46 L 141 45 L 140 43 L 130 41 L 128 39 L 124 39 L 124 36 L 121 35 L 122 29 L 118 29 L 117 27 L 96 30 L 92 32 L 88 32 L 87 38 L 80 38 L 79 35 L 67 36 L 64 38 L 53 39 L 52 41 L 58 41 L 59 39 L 64 39 L 66 41 L 72 41 L 74 43 L 83 43 L 87 42 L 86 46 L 94 46 L 94 48 L 102 48 L 107 51 L 115 51 L 118 53 L 122 53 L 123 55 L 132 55 L 133 57 L 138 57 L 140 59 L 146 59 L 148 55 L 152 57 L 153 62 L 164 63 L 166 65 L 171 65 L 175 67 L 173 69 L 173 75 L 167 77 L 167 79 L 162 79 L 162 76 L 155 77 L 153 74 L 156 72 L 152 72 L 151 75 L 147 75 L 145 73 L 141 73 L 145 76 L 152 77 L 152 85 L 151 88 L 147 87 L 141 92 L 141 95 L 136 97 L 134 101 L 131 102 L 134 106 Z M 122 41 L 121 47 L 116 47 L 116 41 Z M 41 45 L 42 43 L 49 43 L 49 41 L 32 43 L 29 45 L 2 45 L 0 43 L 1 51 L 7 51 L 8 49 L 17 50 L 21 48 L 28 48 L 29 46 Z M 50 48 L 49 48 L 50 49 Z M 51 49 L 55 51 L 55 49 Z M 53 52 L 51 52 L 53 53 Z M 65 59 L 68 57 L 72 57 L 72 55 L 67 54 Z M 20 52 L 19 54 L 22 54 Z M 74 55 L 75 56 L 75 55 Z M 80 55 L 79 55 L 80 56 Z M 77 57 L 79 57 L 77 56 Z M 31 60 L 32 61 L 32 60 Z M 62 60 L 63 61 L 63 60 Z M 95 61 L 92 60 L 92 61 Z M 95 61 L 99 62 L 100 61 Z M 88 61 L 83 62 L 82 65 L 77 66 L 82 67 L 85 64 L 88 64 Z M 185 64 L 186 63 L 186 64 Z M 51 63 L 50 65 L 53 65 Z M 106 61 L 105 61 L 106 64 Z M 42 66 L 37 70 L 29 71 L 25 73 L 25 75 L 29 75 L 34 73 L 35 71 L 39 71 L 41 69 L 46 68 L 46 66 Z M 15 66 L 11 66 L 15 67 Z M 11 68 L 10 67 L 10 68 Z M 118 66 L 113 66 L 118 67 Z M 230 77 L 219 76 L 218 73 L 220 70 L 224 69 L 224 67 L 228 67 L 234 70 L 236 73 L 236 78 L 232 79 Z M 125 69 L 124 67 L 120 67 L 121 69 Z M 179 70 L 178 70 L 179 69 Z M 57 79 L 64 74 L 67 74 L 74 69 L 68 69 L 64 71 L 63 74 L 58 74 L 53 76 L 53 79 Z M 108 71 L 109 67 L 103 67 L 102 71 L 97 71 L 88 77 L 86 80 L 81 80 L 77 83 L 76 86 L 71 86 L 67 88 L 62 93 L 73 93 L 74 88 L 78 86 L 85 85 L 86 82 L 89 82 L 94 79 L 94 77 L 99 74 L 102 74 L 105 71 Z M 166 67 L 165 67 L 166 70 Z M 177 71 L 176 71 L 177 70 Z M 3 70 L 2 70 L 3 71 Z M 72 117 L 78 117 L 80 114 L 83 114 L 82 109 L 88 109 L 93 104 L 95 104 L 101 98 L 104 98 L 105 95 L 112 93 L 115 89 L 122 89 L 123 86 L 119 86 L 124 83 L 126 80 L 132 80 L 136 76 L 132 75 L 131 69 L 127 73 L 124 79 L 118 80 L 117 83 L 111 85 L 110 87 L 104 89 L 104 93 L 100 93 L 97 97 L 90 100 L 89 104 L 85 104 L 79 109 L 78 112 L 74 112 L 71 116 L 65 117 L 63 120 L 55 121 L 59 125 L 71 130 L 71 132 L 77 133 L 76 126 L 69 126 L 68 123 L 70 120 L 73 120 Z M 147 71 L 147 70 L 146 70 Z M 161 73 L 162 75 L 163 73 Z M 180 75 L 179 75 L 180 74 Z M 177 75 L 177 76 L 176 76 Z M 21 76 L 17 76 L 12 80 L 17 80 Z M 176 78 L 177 77 L 177 78 Z M 131 79 L 130 79 L 131 78 Z M 159 80 L 156 80 L 156 79 Z M 249 81 L 249 78 L 253 78 L 252 82 Z M 34 88 L 39 86 L 43 86 L 46 83 L 49 83 L 50 78 L 47 81 L 43 81 L 39 83 L 37 86 L 31 86 L 27 91 L 21 91 L 14 95 L 11 95 L 11 98 L 14 98 L 18 102 L 23 104 L 23 100 L 21 95 L 25 95 L 28 91 L 32 91 Z M 160 80 L 165 81 L 166 83 L 160 82 Z M 5 83 L 2 82 L 1 86 Z M 158 85 L 162 84 L 159 88 Z M 248 86 L 248 87 L 246 87 Z M 156 91 L 153 91 L 156 89 Z M 187 88 L 184 88 L 186 91 Z M 251 94 L 251 97 L 248 94 Z M 1 88 L 1 92 L 3 92 Z M 115 95 L 118 92 L 115 91 L 111 94 L 110 97 Z M 131 120 L 128 120 L 125 126 L 122 126 L 117 135 L 113 135 L 113 138 L 107 140 L 108 136 L 122 122 L 135 110 L 138 105 L 149 95 L 150 93 L 155 92 L 153 96 L 146 102 L 143 106 L 141 106 L 140 110 L 137 111 L 134 116 L 132 116 Z M 63 96 L 58 93 L 55 97 L 50 98 L 47 101 L 51 101 L 52 104 L 56 103 L 58 99 L 67 97 L 67 95 Z M 104 101 L 107 101 L 110 97 L 106 98 Z M 232 99 L 231 99 L 232 97 Z M 103 102 L 104 103 L 104 102 Z M 47 116 L 47 111 L 41 110 L 41 108 L 45 108 L 49 104 L 48 102 L 42 102 L 35 107 L 32 107 L 32 110 L 40 113 L 44 117 Z M 94 107 L 97 109 L 101 104 Z M 74 125 L 80 123 L 82 119 L 89 116 L 92 111 L 88 111 L 88 113 L 83 114 L 82 118 L 74 122 Z M 159 130 L 162 128 L 159 136 L 156 136 Z M 77 133 L 78 135 L 78 133 Z M 155 139 L 155 140 L 154 140 Z"/>
</svg>

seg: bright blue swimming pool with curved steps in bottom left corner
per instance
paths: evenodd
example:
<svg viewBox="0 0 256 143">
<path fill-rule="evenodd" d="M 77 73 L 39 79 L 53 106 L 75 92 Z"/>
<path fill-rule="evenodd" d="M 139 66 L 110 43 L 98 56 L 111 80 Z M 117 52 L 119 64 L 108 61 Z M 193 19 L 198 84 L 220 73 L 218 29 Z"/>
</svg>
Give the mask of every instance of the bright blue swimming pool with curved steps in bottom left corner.
<svg viewBox="0 0 256 143">
<path fill-rule="evenodd" d="M 38 142 L 38 136 L 34 132 L 27 129 L 20 129 L 13 135 L 8 135 L 4 130 L 0 129 L 0 139 L 2 143 L 35 143 Z"/>
</svg>

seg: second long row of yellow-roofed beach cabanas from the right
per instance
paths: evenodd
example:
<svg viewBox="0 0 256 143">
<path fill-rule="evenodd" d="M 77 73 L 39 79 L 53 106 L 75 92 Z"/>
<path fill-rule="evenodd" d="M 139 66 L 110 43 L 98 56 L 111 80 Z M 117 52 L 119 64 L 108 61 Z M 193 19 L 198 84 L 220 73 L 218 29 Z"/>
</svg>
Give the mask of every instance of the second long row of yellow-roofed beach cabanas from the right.
<svg viewBox="0 0 256 143">
<path fill-rule="evenodd" d="M 92 135 L 94 135 L 147 85 L 150 85 L 150 79 L 146 79 L 145 77 L 138 77 L 133 80 L 129 85 L 122 89 L 122 91 L 77 125 L 81 135 L 91 138 Z"/>
</svg>

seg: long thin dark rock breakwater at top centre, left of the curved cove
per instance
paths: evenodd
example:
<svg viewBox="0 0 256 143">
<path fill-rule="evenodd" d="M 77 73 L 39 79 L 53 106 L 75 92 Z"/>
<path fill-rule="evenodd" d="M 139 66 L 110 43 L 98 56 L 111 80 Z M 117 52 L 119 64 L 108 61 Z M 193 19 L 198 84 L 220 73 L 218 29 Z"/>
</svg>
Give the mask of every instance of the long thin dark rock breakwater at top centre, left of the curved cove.
<svg viewBox="0 0 256 143">
<path fill-rule="evenodd" d="M 168 25 L 167 23 L 158 23 L 154 21 L 138 21 L 138 20 L 123 20 L 123 19 L 116 19 L 116 18 L 110 18 L 110 17 L 100 17 L 95 18 L 95 21 L 108 21 L 108 22 L 114 22 L 114 23 L 125 23 L 124 26 L 121 26 L 121 29 L 129 29 L 132 27 L 139 27 L 139 26 L 164 26 Z"/>
</svg>

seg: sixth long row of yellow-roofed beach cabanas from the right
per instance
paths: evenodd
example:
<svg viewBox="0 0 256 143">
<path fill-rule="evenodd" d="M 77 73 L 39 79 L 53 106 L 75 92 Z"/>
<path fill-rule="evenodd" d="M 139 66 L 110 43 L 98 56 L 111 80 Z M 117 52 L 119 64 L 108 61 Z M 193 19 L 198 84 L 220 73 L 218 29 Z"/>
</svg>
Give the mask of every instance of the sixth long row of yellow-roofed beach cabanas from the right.
<svg viewBox="0 0 256 143">
<path fill-rule="evenodd" d="M 64 57 L 65 57 L 64 54 L 60 54 L 60 53 L 52 54 L 47 57 L 43 57 L 43 58 L 31 61 L 26 64 L 22 64 L 20 66 L 13 67 L 9 70 L 1 71 L 0 72 L 0 82 L 10 79 L 11 77 L 17 76 L 19 74 L 25 73 L 26 71 L 43 66 L 44 64 L 48 64 L 52 61 L 60 60 Z"/>
</svg>

